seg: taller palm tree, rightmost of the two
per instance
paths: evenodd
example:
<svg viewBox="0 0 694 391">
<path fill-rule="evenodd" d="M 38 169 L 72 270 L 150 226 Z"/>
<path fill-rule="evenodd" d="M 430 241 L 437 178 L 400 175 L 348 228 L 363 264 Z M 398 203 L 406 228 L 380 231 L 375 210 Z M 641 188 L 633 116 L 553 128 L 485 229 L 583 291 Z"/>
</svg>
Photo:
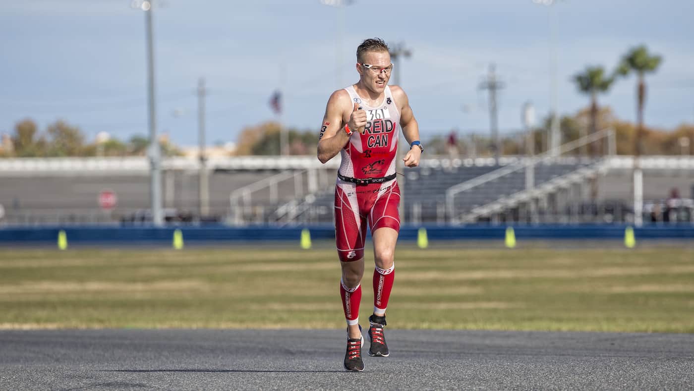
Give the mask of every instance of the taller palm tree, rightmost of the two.
<svg viewBox="0 0 694 391">
<path fill-rule="evenodd" d="M 617 73 L 621 76 L 627 76 L 633 71 L 638 77 L 638 85 L 636 86 L 637 126 L 636 137 L 634 137 L 634 155 L 636 156 L 641 155 L 641 138 L 643 137 L 643 105 L 646 99 L 645 73 L 655 71 L 662 60 L 660 55 L 651 55 L 646 46 L 641 45 L 627 52 L 617 68 Z"/>
</svg>

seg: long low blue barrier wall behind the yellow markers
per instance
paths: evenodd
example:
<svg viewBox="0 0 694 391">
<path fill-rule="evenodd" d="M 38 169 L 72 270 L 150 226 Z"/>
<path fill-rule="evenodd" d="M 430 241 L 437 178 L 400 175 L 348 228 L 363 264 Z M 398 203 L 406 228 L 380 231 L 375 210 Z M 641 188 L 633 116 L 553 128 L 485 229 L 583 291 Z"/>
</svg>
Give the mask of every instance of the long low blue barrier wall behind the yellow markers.
<svg viewBox="0 0 694 391">
<path fill-rule="evenodd" d="M 464 227 L 428 226 L 430 241 L 499 239 L 505 237 L 505 225 L 468 225 Z M 623 239 L 625 225 L 516 225 L 518 239 Z M 58 232 L 65 231 L 70 244 L 164 244 L 171 243 L 174 230 L 180 229 L 186 243 L 298 241 L 301 230 L 310 229 L 313 239 L 335 238 L 332 225 L 309 227 L 24 227 L 0 229 L 0 244 L 31 245 L 56 243 Z M 416 240 L 419 226 L 404 226 L 400 240 Z M 694 225 L 645 226 L 634 228 L 636 239 L 694 239 Z"/>
</svg>

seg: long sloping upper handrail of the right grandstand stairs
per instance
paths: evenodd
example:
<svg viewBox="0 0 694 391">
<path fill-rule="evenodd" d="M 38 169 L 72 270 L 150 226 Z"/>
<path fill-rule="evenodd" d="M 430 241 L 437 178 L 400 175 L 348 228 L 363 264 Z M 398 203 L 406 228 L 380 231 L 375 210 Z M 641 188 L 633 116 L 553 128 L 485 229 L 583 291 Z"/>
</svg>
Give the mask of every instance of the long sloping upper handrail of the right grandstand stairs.
<svg viewBox="0 0 694 391">
<path fill-rule="evenodd" d="M 503 167 L 498 168 L 494 171 L 491 171 L 491 173 L 486 173 L 486 174 L 480 175 L 479 177 L 475 177 L 471 180 L 468 180 L 466 182 L 462 182 L 460 184 L 456 184 L 454 186 L 451 186 L 448 190 L 446 190 L 446 211 L 447 211 L 450 223 L 452 223 L 452 224 L 462 223 L 461 216 L 459 214 L 457 214 L 455 211 L 455 197 L 459 193 L 463 193 L 464 191 L 469 191 L 471 189 L 474 189 L 477 186 L 480 186 L 480 185 L 485 184 L 487 182 L 491 182 L 492 180 L 496 180 L 500 177 L 504 177 L 504 176 L 509 175 L 511 173 L 515 173 L 516 171 L 523 170 L 524 168 L 531 168 L 531 170 L 532 170 L 532 168 L 534 168 L 534 166 L 536 166 L 540 162 L 555 161 L 555 160 L 561 158 L 561 155 L 564 153 L 567 153 L 571 150 L 575 150 L 577 148 L 580 148 L 581 146 L 591 144 L 595 141 L 600 141 L 600 140 L 607 142 L 608 155 L 611 156 L 611 155 L 616 154 L 615 133 L 611 129 L 604 129 L 604 130 L 600 130 L 599 132 L 589 134 L 586 137 L 582 137 L 580 139 L 570 141 L 566 144 L 559 146 L 559 151 L 557 153 L 555 153 L 554 150 L 548 150 L 547 152 L 542 153 L 540 155 L 536 155 L 534 157 L 528 157 L 526 159 L 523 159 L 523 161 L 518 163 L 518 164 L 509 164 L 508 166 L 503 166 Z M 497 202 L 497 200 L 495 200 L 494 202 Z"/>
</svg>

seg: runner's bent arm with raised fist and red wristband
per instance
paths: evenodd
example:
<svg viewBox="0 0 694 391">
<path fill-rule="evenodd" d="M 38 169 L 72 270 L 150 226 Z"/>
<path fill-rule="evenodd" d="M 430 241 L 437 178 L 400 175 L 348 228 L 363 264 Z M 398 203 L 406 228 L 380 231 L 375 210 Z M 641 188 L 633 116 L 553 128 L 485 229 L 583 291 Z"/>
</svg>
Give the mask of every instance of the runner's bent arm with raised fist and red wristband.
<svg viewBox="0 0 694 391">
<path fill-rule="evenodd" d="M 335 157 L 349 141 L 350 134 L 347 134 L 343 125 L 344 113 L 348 110 L 354 110 L 348 121 L 350 131 L 364 132 L 366 112 L 364 110 L 357 112 L 357 104 L 355 103 L 352 107 L 350 103 L 349 94 L 343 89 L 333 92 L 328 99 L 325 115 L 323 115 L 321 134 L 318 137 L 318 159 L 323 164 Z"/>
</svg>

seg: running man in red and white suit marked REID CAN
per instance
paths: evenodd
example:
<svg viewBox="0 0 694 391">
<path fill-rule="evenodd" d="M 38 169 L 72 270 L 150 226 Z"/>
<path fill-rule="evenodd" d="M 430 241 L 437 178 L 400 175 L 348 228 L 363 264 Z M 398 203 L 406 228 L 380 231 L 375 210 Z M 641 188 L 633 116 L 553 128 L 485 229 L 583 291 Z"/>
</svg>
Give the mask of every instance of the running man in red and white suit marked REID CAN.
<svg viewBox="0 0 694 391">
<path fill-rule="evenodd" d="M 340 297 L 347 320 L 344 367 L 348 371 L 364 370 L 359 302 L 366 224 L 371 228 L 375 259 L 369 356 L 389 356 L 383 328 L 400 231 L 400 189 L 396 181 L 400 132 L 411 146 L 403 158 L 405 166 L 418 166 L 423 152 L 407 95 L 398 86 L 388 86 L 393 64 L 387 44 L 380 38 L 362 42 L 357 47 L 356 67 L 357 84 L 330 96 L 318 141 L 318 159 L 322 163 L 337 153 L 342 157 L 335 185 L 335 240 L 342 268 Z"/>
</svg>

